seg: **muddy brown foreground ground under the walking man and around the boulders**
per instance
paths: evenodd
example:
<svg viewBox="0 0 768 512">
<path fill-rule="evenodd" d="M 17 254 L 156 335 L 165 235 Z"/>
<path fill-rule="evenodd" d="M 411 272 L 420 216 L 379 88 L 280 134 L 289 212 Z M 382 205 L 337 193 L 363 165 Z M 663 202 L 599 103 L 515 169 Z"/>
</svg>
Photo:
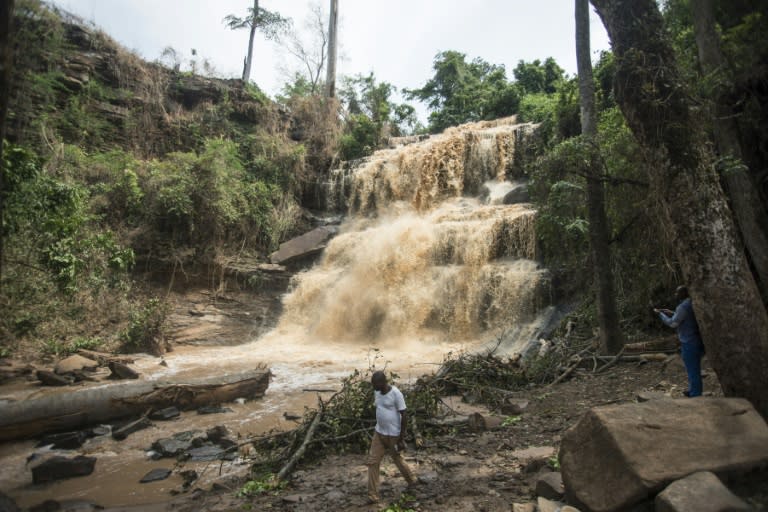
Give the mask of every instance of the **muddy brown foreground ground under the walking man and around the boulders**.
<svg viewBox="0 0 768 512">
<path fill-rule="evenodd" d="M 705 394 L 721 395 L 706 359 L 704 366 Z M 385 459 L 378 505 L 367 503 L 364 455 L 354 454 L 333 455 L 302 466 L 278 493 L 238 498 L 235 492 L 243 482 L 223 482 L 214 491 L 193 491 L 181 497 L 169 510 L 508 511 L 513 503 L 535 501 L 537 475 L 551 470 L 535 459 L 554 455 L 563 433 L 586 410 L 633 402 L 641 392 L 682 397 L 685 383 L 682 363 L 673 356 L 666 363 L 622 363 L 604 374 L 584 372 L 552 387 L 518 392 L 517 397 L 529 401 L 519 420 L 479 433 L 459 428 L 428 440 L 422 449 L 410 447 L 406 461 L 421 477 L 417 488 L 406 489 L 397 469 Z M 764 476 L 762 481 L 734 484 L 734 491 L 758 510 L 765 510 L 768 502 Z"/>
</svg>

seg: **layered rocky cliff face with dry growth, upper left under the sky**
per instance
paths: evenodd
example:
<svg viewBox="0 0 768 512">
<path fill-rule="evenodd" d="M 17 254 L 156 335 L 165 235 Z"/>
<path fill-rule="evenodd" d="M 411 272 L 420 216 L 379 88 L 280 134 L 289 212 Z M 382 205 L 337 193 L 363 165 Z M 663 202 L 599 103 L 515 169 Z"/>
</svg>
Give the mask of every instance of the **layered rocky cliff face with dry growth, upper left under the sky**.
<svg viewBox="0 0 768 512">
<path fill-rule="evenodd" d="M 103 32 L 36 0 L 17 2 L 8 138 L 142 157 L 196 149 L 205 138 L 286 131 L 256 87 L 145 62 Z"/>
</svg>

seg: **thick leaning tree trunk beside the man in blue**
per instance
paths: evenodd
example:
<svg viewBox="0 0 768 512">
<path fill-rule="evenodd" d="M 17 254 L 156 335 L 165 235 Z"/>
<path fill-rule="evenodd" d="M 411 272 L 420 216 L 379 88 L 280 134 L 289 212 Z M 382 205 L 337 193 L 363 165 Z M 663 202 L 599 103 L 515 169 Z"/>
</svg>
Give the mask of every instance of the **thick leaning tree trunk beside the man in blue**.
<svg viewBox="0 0 768 512">
<path fill-rule="evenodd" d="M 615 93 L 645 149 L 662 229 L 674 242 L 712 366 L 727 396 L 768 417 L 768 314 L 693 119 L 655 0 L 592 0 L 616 59 Z"/>
</svg>

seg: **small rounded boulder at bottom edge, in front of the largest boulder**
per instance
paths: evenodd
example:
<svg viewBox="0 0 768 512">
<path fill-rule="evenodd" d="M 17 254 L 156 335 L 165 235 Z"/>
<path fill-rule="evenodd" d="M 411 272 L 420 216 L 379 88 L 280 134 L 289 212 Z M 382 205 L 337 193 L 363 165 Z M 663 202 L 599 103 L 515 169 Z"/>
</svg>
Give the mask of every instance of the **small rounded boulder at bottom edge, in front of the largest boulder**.
<svg viewBox="0 0 768 512">
<path fill-rule="evenodd" d="M 656 496 L 656 512 L 749 512 L 753 510 L 713 473 L 700 471 L 669 484 Z"/>
</svg>

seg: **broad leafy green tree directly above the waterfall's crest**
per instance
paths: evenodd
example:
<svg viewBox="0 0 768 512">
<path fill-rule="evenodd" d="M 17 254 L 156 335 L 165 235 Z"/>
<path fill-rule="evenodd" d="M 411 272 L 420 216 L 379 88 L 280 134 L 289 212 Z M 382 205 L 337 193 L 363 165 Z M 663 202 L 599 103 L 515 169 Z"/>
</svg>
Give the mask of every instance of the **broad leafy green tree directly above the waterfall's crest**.
<svg viewBox="0 0 768 512">
<path fill-rule="evenodd" d="M 517 112 L 520 94 L 504 66 L 481 58 L 467 62 L 465 54 L 446 51 L 435 56 L 432 67 L 435 74 L 426 84 L 405 91 L 408 98 L 427 103 L 431 132 Z"/>
</svg>

